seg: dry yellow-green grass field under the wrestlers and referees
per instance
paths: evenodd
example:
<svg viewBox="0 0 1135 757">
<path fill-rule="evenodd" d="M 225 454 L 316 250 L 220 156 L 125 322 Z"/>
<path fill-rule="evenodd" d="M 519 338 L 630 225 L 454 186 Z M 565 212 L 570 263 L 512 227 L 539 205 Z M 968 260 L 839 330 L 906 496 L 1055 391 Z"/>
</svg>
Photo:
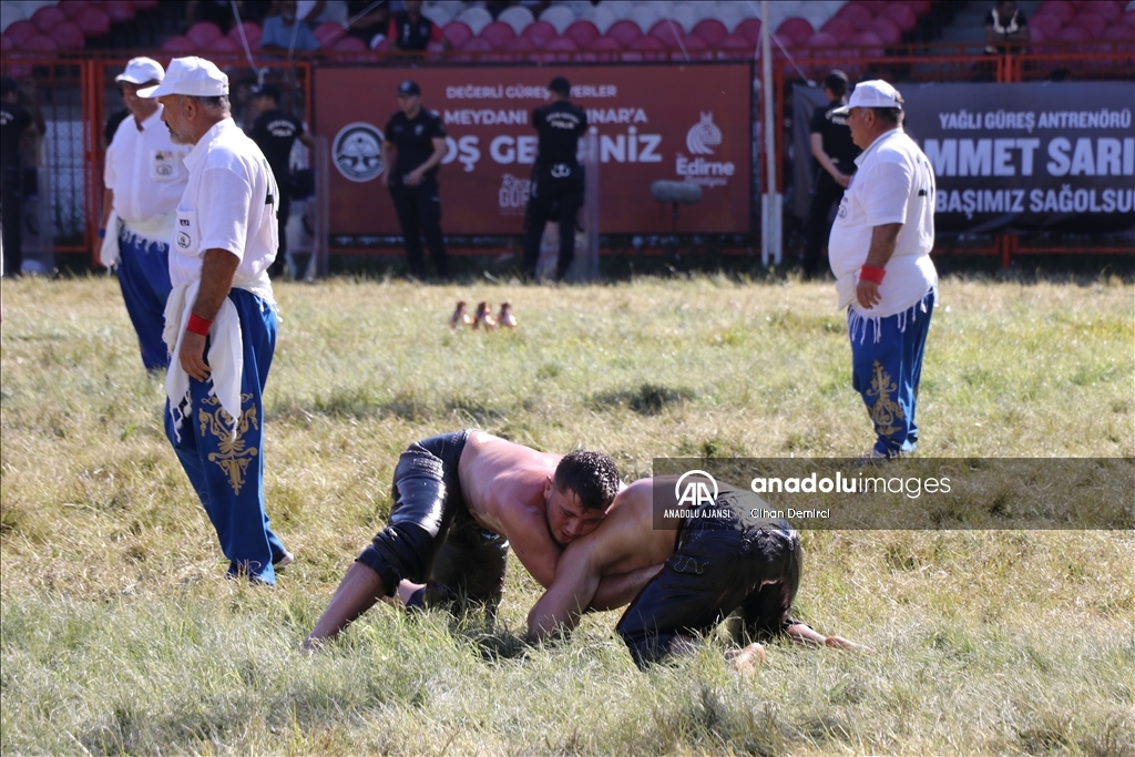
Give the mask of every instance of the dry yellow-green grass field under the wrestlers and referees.
<svg viewBox="0 0 1135 757">
<path fill-rule="evenodd" d="M 299 644 L 382 523 L 397 454 L 478 426 L 615 457 L 851 456 L 871 444 L 833 287 L 277 288 L 267 495 L 297 562 L 222 578 L 117 285 L 3 283 L 0 752 L 1135 755 L 1135 535 L 806 532 L 799 615 L 869 644 L 774 644 L 753 676 L 715 639 L 639 673 L 617 615 L 526 647 L 376 608 Z M 452 334 L 510 298 L 516 333 Z M 947 279 L 919 405 L 926 456 L 1135 455 L 1135 287 Z"/>
</svg>

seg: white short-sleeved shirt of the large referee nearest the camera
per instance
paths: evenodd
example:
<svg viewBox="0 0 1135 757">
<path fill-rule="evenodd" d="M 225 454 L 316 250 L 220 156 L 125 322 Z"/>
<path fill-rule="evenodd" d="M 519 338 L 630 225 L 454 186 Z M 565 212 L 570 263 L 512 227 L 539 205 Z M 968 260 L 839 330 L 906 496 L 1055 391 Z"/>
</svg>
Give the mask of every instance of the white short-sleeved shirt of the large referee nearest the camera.
<svg viewBox="0 0 1135 757">
<path fill-rule="evenodd" d="M 169 247 L 170 283 L 200 280 L 205 251 L 227 250 L 241 260 L 233 286 L 271 302 L 279 190 L 260 148 L 226 118 L 197 141 L 185 165 L 190 180 Z"/>
</svg>

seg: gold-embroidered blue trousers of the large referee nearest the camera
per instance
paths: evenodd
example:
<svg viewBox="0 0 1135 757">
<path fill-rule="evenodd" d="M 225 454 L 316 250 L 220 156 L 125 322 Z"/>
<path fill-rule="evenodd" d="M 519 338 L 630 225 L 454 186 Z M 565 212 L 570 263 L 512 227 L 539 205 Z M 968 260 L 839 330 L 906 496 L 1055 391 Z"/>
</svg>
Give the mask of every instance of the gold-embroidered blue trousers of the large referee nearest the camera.
<svg viewBox="0 0 1135 757">
<path fill-rule="evenodd" d="M 178 441 L 174 434 L 168 401 L 166 436 L 217 530 L 221 552 L 229 560 L 229 574 L 275 586 L 272 563 L 286 550 L 264 511 L 262 395 L 276 351 L 276 311 L 244 289 L 234 288 L 228 298 L 236 305 L 244 337 L 236 440 L 229 436 L 229 414 L 217 397 L 209 396 L 211 379 L 197 381 L 193 377 L 182 439 Z"/>
</svg>

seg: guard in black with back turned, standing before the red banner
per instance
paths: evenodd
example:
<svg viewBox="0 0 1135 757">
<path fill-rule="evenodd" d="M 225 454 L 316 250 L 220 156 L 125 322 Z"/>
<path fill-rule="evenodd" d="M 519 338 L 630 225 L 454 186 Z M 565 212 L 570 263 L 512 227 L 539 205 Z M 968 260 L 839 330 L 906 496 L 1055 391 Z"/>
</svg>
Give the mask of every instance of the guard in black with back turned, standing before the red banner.
<svg viewBox="0 0 1135 757">
<path fill-rule="evenodd" d="M 571 267 L 575 255 L 575 215 L 583 204 L 583 168 L 575 160 L 579 137 L 587 131 L 587 113 L 568 100 L 571 85 L 563 76 L 548 84 L 552 102 L 532 111 L 532 126 L 540 135 L 532 188 L 528 199 L 528 237 L 524 239 L 524 272 L 536 278 L 540 238 L 558 203 L 560 260 L 556 280 Z"/>
</svg>

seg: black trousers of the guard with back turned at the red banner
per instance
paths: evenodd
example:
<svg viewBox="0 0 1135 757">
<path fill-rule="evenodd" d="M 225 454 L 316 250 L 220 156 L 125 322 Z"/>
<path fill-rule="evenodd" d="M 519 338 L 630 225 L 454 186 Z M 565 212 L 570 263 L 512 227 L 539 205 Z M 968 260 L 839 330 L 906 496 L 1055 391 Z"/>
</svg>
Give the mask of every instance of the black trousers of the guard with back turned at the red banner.
<svg viewBox="0 0 1135 757">
<path fill-rule="evenodd" d="M 536 278 L 540 261 L 544 227 L 553 216 L 560 221 L 560 258 L 556 279 L 562 279 L 575 256 L 575 216 L 583 204 L 583 168 L 557 163 L 532 169 L 532 188 L 528 196 L 528 233 L 524 237 L 524 272 Z M 558 208 L 558 213 L 555 209 Z"/>
</svg>

